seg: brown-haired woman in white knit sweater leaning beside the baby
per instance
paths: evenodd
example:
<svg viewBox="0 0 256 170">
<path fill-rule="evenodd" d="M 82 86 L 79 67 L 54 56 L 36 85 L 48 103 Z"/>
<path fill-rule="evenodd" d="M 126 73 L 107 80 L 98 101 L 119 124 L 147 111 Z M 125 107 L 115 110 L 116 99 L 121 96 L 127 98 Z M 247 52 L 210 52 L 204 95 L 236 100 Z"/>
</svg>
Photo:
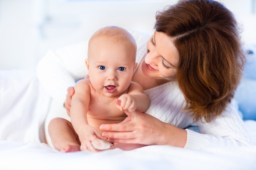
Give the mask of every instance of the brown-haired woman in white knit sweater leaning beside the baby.
<svg viewBox="0 0 256 170">
<path fill-rule="evenodd" d="M 103 137 L 193 149 L 252 145 L 232 100 L 245 54 L 231 11 L 211 0 L 181 0 L 157 12 L 147 48 L 132 80 L 151 106 L 147 114 L 126 112 L 124 122 L 101 125 Z M 69 88 L 67 111 L 73 93 Z"/>
</svg>

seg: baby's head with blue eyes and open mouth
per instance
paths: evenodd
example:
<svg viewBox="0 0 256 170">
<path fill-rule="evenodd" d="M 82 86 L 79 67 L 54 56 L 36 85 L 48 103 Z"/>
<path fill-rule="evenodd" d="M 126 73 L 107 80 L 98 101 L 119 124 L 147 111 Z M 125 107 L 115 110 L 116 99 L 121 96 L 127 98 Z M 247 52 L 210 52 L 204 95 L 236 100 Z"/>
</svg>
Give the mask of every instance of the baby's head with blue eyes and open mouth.
<svg viewBox="0 0 256 170">
<path fill-rule="evenodd" d="M 92 86 L 108 97 L 128 89 L 135 63 L 137 45 L 132 35 L 118 26 L 106 26 L 89 40 L 85 60 Z"/>
</svg>

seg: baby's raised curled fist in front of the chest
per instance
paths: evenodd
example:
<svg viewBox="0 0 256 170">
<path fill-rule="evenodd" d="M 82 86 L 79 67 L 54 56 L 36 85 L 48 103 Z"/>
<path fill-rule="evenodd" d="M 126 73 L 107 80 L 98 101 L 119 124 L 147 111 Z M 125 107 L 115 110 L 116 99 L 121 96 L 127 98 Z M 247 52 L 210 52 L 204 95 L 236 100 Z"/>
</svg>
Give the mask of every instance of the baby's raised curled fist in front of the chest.
<svg viewBox="0 0 256 170">
<path fill-rule="evenodd" d="M 132 95 L 124 94 L 121 95 L 116 101 L 117 107 L 120 110 L 135 111 L 137 104 L 135 98 Z"/>
</svg>

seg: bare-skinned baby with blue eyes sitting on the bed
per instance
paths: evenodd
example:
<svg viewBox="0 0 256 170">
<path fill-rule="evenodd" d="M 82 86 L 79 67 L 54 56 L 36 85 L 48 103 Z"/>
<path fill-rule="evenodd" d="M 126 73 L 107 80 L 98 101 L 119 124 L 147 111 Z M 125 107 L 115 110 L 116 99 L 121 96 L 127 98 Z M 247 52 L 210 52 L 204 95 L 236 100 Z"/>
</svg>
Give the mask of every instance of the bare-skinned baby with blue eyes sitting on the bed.
<svg viewBox="0 0 256 170">
<path fill-rule="evenodd" d="M 99 126 L 122 122 L 127 117 L 124 110 L 143 113 L 148 109 L 149 97 L 131 81 L 137 66 L 136 49 L 132 35 L 117 26 L 103 27 L 92 35 L 85 60 L 89 78 L 74 86 L 71 122 L 54 118 L 49 123 L 49 135 L 57 150 L 95 152 L 110 148 L 112 144 L 101 136 Z M 114 144 L 112 148 L 138 147 L 141 145 Z"/>
</svg>

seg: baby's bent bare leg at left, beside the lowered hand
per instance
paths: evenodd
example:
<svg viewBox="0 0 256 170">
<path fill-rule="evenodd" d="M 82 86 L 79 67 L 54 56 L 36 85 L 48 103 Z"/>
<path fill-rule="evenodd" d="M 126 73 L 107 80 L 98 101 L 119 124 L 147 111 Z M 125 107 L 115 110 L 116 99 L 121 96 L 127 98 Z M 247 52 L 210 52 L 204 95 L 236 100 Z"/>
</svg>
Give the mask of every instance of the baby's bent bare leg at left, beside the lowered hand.
<svg viewBox="0 0 256 170">
<path fill-rule="evenodd" d="M 56 117 L 49 122 L 49 136 L 54 148 L 62 152 L 80 150 L 80 142 L 70 121 Z"/>
</svg>

